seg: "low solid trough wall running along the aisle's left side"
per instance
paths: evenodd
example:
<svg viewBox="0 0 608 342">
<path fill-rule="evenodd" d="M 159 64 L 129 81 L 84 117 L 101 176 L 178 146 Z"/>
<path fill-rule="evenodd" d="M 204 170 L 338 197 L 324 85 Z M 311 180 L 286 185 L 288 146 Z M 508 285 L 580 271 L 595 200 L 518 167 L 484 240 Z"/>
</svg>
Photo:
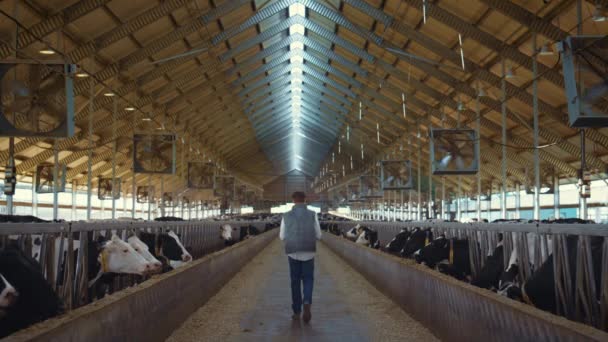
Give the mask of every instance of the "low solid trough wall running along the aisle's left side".
<svg viewBox="0 0 608 342">
<path fill-rule="evenodd" d="M 16 341 L 164 341 L 276 238 L 261 234 L 9 337 Z"/>
</svg>

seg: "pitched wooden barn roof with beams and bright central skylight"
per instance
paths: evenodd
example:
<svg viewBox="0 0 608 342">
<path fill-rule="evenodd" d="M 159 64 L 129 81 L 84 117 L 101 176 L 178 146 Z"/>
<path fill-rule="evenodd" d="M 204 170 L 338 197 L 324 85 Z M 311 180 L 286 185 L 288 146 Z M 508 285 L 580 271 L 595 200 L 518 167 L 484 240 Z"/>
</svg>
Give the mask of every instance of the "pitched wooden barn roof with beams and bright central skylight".
<svg viewBox="0 0 608 342">
<path fill-rule="evenodd" d="M 94 177 L 110 175 L 115 158 L 117 176 L 130 184 L 133 132 L 164 125 L 183 137 L 178 172 L 165 177 L 165 188 L 175 191 L 185 187 L 187 161 L 203 156 L 258 186 L 296 168 L 309 176 L 325 166 L 361 172 L 373 156 L 381 159 L 400 144 L 407 151 L 408 139 L 417 151 L 418 129 L 426 168 L 429 126 L 474 127 L 479 87 L 489 95 L 480 99 L 481 173 L 498 179 L 503 59 L 517 75 L 505 85 L 509 182 L 521 181 L 532 161 L 532 32 L 540 46 L 575 33 L 577 23 L 575 0 L 429 0 L 426 23 L 422 0 L 27 0 L 17 11 L 15 1 L 1 2 L 0 9 L 28 28 L 19 31 L 20 55 L 45 58 L 38 54 L 43 40 L 94 76 L 75 79 L 77 134 L 57 140 L 68 178 L 85 182 L 92 115 Z M 294 3 L 306 7 L 304 16 L 290 13 Z M 606 0 L 599 3 L 608 7 Z M 593 1 L 583 1 L 583 33 L 607 34 L 608 23 L 590 19 L 593 9 Z M 0 58 L 8 59 L 15 55 L 15 25 L 4 19 Z M 202 47 L 208 49 L 153 63 Z M 464 72 L 449 67 L 461 62 Z M 567 123 L 561 64 L 557 54 L 538 62 L 540 143 L 551 145 L 540 158 L 572 177 L 580 138 Z M 301 86 L 294 83 L 296 67 Z M 114 99 L 103 96 L 108 88 L 120 95 L 114 126 Z M 457 110 L 459 101 L 464 111 Z M 131 105 L 138 110 L 124 110 Z M 299 128 L 294 106 L 300 108 Z M 147 116 L 153 121 L 141 120 Z M 31 174 L 37 164 L 52 161 L 52 148 L 52 140 L 16 139 L 18 172 Z M 589 168 L 605 172 L 608 129 L 588 129 L 586 148 Z M 0 138 L 0 165 L 7 158 L 8 139 Z M 147 175 L 136 179 L 148 182 Z M 153 182 L 159 179 L 153 176 Z M 447 185 L 456 182 L 450 178 Z M 463 177 L 461 185 L 466 191 L 473 182 Z"/>
</svg>

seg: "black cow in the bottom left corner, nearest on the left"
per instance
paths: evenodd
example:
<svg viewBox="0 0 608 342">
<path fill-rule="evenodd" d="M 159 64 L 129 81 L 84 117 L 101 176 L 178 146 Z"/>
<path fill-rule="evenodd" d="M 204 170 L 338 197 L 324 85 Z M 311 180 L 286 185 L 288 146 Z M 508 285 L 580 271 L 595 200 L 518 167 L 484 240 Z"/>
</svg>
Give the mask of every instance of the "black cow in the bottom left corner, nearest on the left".
<svg viewBox="0 0 608 342">
<path fill-rule="evenodd" d="M 3 309 L 0 338 L 64 311 L 63 303 L 44 279 L 38 262 L 23 251 L 16 248 L 1 251 L 0 274 L 15 293 L 19 293 L 12 299 L 12 305 Z"/>
</svg>

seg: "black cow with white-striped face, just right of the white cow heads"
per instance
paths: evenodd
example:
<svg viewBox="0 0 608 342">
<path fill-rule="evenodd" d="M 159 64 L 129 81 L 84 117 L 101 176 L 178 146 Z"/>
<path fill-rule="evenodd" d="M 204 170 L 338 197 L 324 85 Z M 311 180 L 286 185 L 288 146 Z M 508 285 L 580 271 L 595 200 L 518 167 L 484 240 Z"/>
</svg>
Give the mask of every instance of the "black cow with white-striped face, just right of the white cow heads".
<svg viewBox="0 0 608 342">
<path fill-rule="evenodd" d="M 179 236 L 173 231 L 160 233 L 141 232 L 139 239 L 145 243 L 149 250 L 154 251 L 154 257 L 163 262 L 163 272 L 184 266 L 192 261 L 192 255 L 181 243 Z"/>
</svg>

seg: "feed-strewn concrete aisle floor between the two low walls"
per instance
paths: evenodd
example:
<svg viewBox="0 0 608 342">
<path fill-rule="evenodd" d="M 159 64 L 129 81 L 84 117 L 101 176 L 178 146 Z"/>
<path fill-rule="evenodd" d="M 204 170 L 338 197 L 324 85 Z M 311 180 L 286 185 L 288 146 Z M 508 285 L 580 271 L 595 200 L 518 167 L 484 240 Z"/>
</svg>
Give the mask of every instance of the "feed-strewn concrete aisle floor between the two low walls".
<svg viewBox="0 0 608 342">
<path fill-rule="evenodd" d="M 420 323 L 318 245 L 312 321 L 291 320 L 287 257 L 273 241 L 167 341 L 434 341 Z"/>
</svg>

